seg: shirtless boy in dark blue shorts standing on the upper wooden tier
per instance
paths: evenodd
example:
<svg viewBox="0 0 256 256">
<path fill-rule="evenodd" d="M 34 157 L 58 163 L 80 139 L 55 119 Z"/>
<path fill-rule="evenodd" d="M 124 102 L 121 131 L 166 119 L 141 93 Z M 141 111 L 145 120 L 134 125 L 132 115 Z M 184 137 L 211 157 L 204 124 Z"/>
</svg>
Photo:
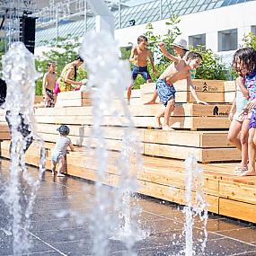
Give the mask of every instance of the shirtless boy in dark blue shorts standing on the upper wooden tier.
<svg viewBox="0 0 256 256">
<path fill-rule="evenodd" d="M 146 82 L 152 82 L 151 76 L 147 70 L 147 58 L 149 58 L 154 74 L 156 70 L 154 68 L 153 57 L 149 49 L 146 48 L 147 38 L 145 36 L 139 36 L 137 38 L 137 47 L 133 48 L 130 53 L 129 61 L 134 64 L 132 70 L 132 79 L 136 80 L 137 75 L 142 75 Z M 131 89 L 133 84 L 128 86 L 128 104 L 130 101 Z"/>
</svg>

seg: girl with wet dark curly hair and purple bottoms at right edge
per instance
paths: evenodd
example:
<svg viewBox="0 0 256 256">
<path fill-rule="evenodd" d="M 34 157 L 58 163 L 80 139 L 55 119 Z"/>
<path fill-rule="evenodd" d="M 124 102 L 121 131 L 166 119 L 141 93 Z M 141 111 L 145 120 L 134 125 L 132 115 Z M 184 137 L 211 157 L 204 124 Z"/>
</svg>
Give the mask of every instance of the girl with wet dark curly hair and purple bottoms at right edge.
<svg viewBox="0 0 256 256">
<path fill-rule="evenodd" d="M 252 48 L 239 49 L 234 53 L 234 69 L 236 72 L 246 74 L 244 85 L 249 91 L 249 102 L 244 107 L 242 115 L 250 119 L 248 138 L 248 171 L 242 172 L 242 176 L 256 175 L 256 51 Z"/>
</svg>

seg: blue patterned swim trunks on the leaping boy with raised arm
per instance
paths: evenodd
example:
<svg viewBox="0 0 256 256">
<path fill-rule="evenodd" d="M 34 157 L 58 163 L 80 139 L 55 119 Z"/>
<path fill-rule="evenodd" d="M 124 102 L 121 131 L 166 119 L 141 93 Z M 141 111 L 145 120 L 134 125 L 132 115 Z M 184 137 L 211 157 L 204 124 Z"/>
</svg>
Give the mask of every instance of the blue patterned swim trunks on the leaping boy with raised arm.
<svg viewBox="0 0 256 256">
<path fill-rule="evenodd" d="M 174 86 L 171 84 L 167 84 L 163 79 L 157 79 L 156 81 L 156 90 L 159 96 L 160 101 L 164 106 L 167 105 L 171 99 L 175 100 L 176 90 Z"/>
</svg>

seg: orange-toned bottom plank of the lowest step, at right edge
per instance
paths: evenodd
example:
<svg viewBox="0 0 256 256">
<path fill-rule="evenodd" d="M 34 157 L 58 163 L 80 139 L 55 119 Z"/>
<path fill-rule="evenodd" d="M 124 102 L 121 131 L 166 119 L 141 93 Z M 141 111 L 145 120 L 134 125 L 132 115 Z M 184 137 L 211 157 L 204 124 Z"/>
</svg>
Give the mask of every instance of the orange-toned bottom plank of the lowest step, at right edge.
<svg viewBox="0 0 256 256">
<path fill-rule="evenodd" d="M 219 214 L 256 223 L 256 205 L 231 199 L 219 199 Z"/>
</svg>

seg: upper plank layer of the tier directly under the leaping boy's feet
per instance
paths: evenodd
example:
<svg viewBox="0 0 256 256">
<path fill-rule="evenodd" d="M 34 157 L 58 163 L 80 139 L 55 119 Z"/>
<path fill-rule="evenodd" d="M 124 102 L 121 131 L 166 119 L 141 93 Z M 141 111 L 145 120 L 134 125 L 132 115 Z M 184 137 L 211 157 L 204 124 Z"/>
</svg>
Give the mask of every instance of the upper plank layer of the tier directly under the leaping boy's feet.
<svg viewBox="0 0 256 256">
<path fill-rule="evenodd" d="M 55 142 L 58 137 L 57 128 L 59 125 L 41 124 L 37 125 L 37 132 L 46 141 Z M 92 137 L 92 128 L 71 125 L 69 137 L 75 145 L 86 146 L 88 137 Z M 121 140 L 124 137 L 125 128 L 102 128 L 102 136 L 108 139 Z M 151 144 L 164 144 L 172 146 L 192 146 L 192 147 L 233 147 L 227 140 L 227 131 L 187 131 L 176 130 L 166 133 L 158 129 L 135 129 L 133 136 L 138 141 Z"/>
</svg>

